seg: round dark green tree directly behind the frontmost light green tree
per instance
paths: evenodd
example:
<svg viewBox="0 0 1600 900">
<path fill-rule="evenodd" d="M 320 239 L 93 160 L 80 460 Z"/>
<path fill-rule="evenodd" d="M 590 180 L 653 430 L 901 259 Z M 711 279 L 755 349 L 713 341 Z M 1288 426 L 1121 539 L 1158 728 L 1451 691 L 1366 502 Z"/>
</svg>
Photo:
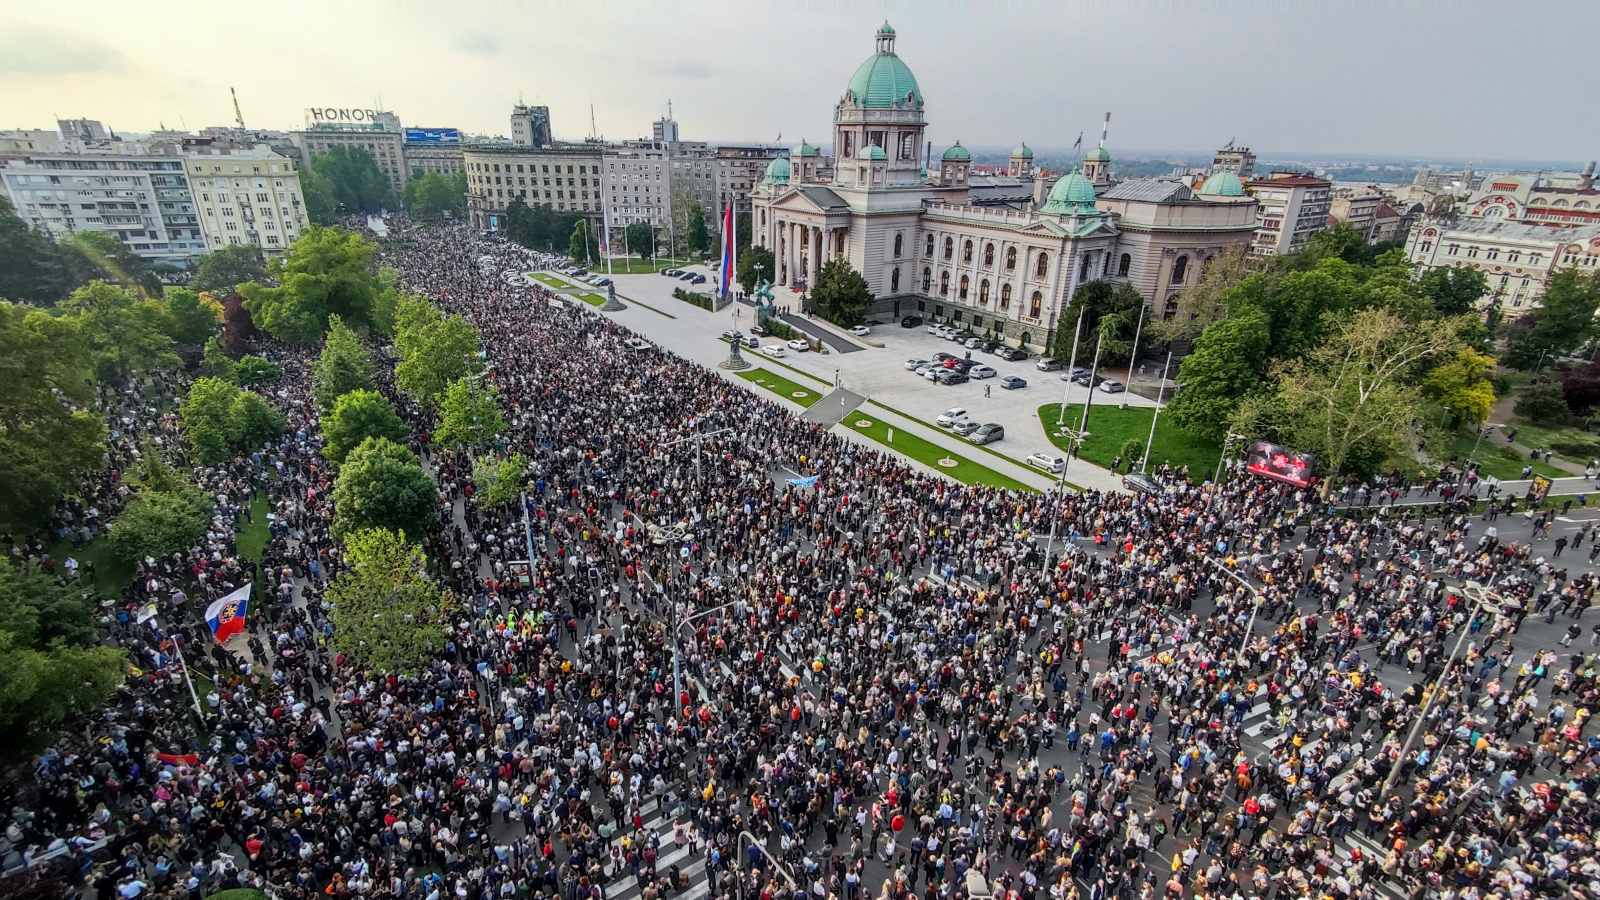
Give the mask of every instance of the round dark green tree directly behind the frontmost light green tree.
<svg viewBox="0 0 1600 900">
<path fill-rule="evenodd" d="M 333 485 L 333 530 L 394 528 L 424 535 L 434 528 L 438 490 L 416 453 L 387 437 L 368 437 L 350 450 Z"/>
</svg>

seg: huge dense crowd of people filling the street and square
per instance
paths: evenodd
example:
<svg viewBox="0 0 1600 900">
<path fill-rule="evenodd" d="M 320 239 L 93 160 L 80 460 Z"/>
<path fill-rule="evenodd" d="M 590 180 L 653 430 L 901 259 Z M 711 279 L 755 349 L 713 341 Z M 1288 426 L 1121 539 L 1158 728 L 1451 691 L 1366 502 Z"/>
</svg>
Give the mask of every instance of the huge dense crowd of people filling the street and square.
<svg viewBox="0 0 1600 900">
<path fill-rule="evenodd" d="M 1574 560 L 1242 472 L 960 485 L 630 349 L 515 245 L 389 224 L 382 264 L 477 325 L 533 461 L 523 503 L 470 503 L 381 384 L 438 485 L 448 642 L 414 676 L 328 644 L 315 348 L 266 348 L 288 432 L 226 466 L 187 464 L 176 381 L 106 397 L 110 464 L 58 535 L 141 452 L 216 522 L 107 607 L 133 677 L 35 761 L 8 863 L 102 898 L 1600 897 L 1595 639 L 1518 636 L 1594 625 Z M 245 581 L 248 647 L 214 647 L 198 610 Z"/>
</svg>

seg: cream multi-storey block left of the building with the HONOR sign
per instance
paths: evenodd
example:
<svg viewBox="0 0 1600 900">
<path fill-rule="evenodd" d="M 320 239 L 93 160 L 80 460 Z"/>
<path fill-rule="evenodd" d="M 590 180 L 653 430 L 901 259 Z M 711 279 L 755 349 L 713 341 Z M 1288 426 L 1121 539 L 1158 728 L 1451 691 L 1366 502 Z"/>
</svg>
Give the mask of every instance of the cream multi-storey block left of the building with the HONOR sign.
<svg viewBox="0 0 1600 900">
<path fill-rule="evenodd" d="M 184 168 L 211 250 L 245 245 L 282 253 L 310 227 L 294 162 L 266 144 L 189 141 Z"/>
</svg>

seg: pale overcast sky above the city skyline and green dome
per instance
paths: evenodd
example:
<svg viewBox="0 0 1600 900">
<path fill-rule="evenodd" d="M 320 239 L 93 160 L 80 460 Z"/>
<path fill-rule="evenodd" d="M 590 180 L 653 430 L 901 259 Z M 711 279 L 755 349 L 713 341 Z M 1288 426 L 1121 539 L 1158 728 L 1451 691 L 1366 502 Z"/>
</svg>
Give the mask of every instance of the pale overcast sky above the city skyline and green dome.
<svg viewBox="0 0 1600 900">
<path fill-rule="evenodd" d="M 406 125 L 557 138 L 829 139 L 883 18 L 944 146 L 1466 159 L 1600 155 L 1597 0 L 75 0 L 0 3 L 0 128 L 123 131 L 382 102 Z"/>
</svg>

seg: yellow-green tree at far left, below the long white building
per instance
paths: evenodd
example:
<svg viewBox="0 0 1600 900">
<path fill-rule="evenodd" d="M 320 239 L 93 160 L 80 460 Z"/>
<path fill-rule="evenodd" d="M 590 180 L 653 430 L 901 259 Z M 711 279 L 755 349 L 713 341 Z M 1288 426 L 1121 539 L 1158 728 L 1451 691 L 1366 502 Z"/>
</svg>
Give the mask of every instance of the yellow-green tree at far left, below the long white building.
<svg viewBox="0 0 1600 900">
<path fill-rule="evenodd" d="M 182 364 L 168 336 L 166 309 L 158 301 L 139 299 L 126 288 L 90 282 L 61 304 L 77 319 L 102 381 L 125 384 L 134 375 Z"/>
</svg>

